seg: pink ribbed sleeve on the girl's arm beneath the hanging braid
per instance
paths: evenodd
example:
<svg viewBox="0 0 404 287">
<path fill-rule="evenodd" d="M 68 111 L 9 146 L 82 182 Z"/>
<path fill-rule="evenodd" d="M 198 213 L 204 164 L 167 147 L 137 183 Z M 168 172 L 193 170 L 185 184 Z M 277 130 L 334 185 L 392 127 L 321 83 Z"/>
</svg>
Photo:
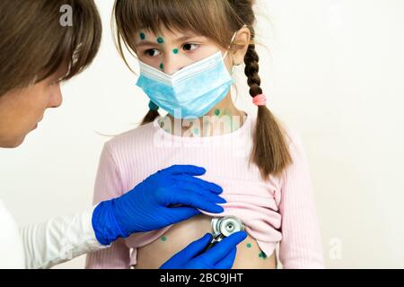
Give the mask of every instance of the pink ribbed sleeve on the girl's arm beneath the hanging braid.
<svg viewBox="0 0 404 287">
<path fill-rule="evenodd" d="M 279 259 L 285 269 L 325 268 L 309 164 L 300 135 L 295 132 L 289 135 L 294 162 L 285 170 L 281 189 Z"/>
</svg>

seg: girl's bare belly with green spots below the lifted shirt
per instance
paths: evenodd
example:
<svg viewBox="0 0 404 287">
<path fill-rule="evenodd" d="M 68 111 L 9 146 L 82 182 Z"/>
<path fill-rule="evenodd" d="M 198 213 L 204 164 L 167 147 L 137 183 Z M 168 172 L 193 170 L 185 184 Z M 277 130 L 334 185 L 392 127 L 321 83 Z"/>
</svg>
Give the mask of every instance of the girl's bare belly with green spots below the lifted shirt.
<svg viewBox="0 0 404 287">
<path fill-rule="evenodd" d="M 137 249 L 136 269 L 157 269 L 189 243 L 211 232 L 211 217 L 205 214 L 194 216 L 167 230 L 162 237 L 149 245 Z M 233 269 L 274 269 L 277 266 L 275 252 L 265 256 L 255 239 L 250 235 L 237 246 Z"/>
</svg>

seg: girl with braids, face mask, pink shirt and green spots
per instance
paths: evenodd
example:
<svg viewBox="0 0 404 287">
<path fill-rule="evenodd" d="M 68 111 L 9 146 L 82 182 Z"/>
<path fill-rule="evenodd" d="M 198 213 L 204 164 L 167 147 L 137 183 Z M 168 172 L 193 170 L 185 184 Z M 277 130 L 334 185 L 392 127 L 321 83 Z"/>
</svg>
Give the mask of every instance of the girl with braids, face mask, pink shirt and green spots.
<svg viewBox="0 0 404 287">
<path fill-rule="evenodd" d="M 300 137 L 282 127 L 259 87 L 253 0 L 117 0 L 118 47 L 140 64 L 137 85 L 151 99 L 143 125 L 105 144 L 94 203 L 121 194 L 172 163 L 206 167 L 223 187 L 224 213 L 203 212 L 162 230 L 132 235 L 87 257 L 88 268 L 158 268 L 233 215 L 249 236 L 233 268 L 323 268 L 308 164 Z M 126 61 L 126 60 L 125 60 Z M 127 62 L 127 61 L 126 61 Z M 258 114 L 237 109 L 233 65 L 246 65 Z M 158 109 L 169 114 L 160 116 Z M 132 252 L 130 252 L 132 250 Z"/>
</svg>

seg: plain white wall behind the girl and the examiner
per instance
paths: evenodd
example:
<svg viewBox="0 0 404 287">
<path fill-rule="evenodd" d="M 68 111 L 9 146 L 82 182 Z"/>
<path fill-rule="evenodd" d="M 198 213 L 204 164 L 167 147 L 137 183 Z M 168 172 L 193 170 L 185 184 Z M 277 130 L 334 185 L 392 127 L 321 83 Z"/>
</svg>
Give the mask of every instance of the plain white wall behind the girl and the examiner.
<svg viewBox="0 0 404 287">
<path fill-rule="evenodd" d="M 90 69 L 63 88 L 62 108 L 16 150 L 0 150 L 0 196 L 18 223 L 91 204 L 102 144 L 133 128 L 147 100 L 110 36 L 112 1 Z M 301 132 L 329 268 L 404 267 L 404 2 L 259 0 L 260 75 L 268 107 Z M 263 9 L 265 8 L 265 9 Z M 237 104 L 253 110 L 242 67 Z M 81 268 L 83 257 L 58 268 Z"/>
</svg>

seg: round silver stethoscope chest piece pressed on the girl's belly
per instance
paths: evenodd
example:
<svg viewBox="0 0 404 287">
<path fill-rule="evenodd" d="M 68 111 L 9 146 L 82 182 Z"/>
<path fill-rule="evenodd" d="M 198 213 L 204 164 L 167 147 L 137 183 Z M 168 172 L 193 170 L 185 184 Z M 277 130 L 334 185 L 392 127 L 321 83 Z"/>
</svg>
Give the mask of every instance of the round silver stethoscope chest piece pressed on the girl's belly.
<svg viewBox="0 0 404 287">
<path fill-rule="evenodd" d="M 235 216 L 224 216 L 221 218 L 214 217 L 211 221 L 211 227 L 213 239 L 205 248 L 205 251 L 213 248 L 215 244 L 222 241 L 224 238 L 229 237 L 233 233 L 244 230 L 244 224 Z"/>
</svg>

